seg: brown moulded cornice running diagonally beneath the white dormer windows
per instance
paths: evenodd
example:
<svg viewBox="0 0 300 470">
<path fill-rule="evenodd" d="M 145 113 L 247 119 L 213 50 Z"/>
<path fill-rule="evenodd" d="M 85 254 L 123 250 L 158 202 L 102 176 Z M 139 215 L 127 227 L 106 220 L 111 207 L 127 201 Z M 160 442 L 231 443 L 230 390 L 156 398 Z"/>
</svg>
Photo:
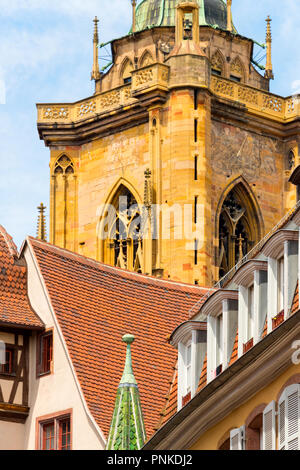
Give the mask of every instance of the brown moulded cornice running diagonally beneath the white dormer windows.
<svg viewBox="0 0 300 470">
<path fill-rule="evenodd" d="M 291 367 L 300 337 L 300 311 L 204 387 L 173 416 L 143 450 L 189 449 L 207 430 Z M 295 366 L 295 370 L 299 366 Z"/>
</svg>

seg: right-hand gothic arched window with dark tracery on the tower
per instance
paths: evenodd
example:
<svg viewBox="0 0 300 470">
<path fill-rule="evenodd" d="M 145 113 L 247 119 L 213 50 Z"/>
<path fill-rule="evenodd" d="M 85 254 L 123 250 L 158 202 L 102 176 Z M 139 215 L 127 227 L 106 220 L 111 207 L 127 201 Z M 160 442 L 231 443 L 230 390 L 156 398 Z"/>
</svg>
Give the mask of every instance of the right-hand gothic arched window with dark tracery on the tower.
<svg viewBox="0 0 300 470">
<path fill-rule="evenodd" d="M 222 278 L 258 243 L 258 215 L 243 189 L 237 185 L 223 202 L 219 219 L 219 277 Z"/>
</svg>

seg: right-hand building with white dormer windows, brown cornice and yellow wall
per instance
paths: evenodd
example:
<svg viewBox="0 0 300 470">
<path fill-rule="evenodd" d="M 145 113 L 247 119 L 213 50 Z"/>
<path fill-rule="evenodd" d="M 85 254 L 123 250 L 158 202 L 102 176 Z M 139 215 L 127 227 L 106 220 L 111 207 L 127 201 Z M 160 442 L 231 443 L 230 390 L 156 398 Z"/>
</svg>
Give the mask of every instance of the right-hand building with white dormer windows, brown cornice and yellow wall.
<svg viewBox="0 0 300 470">
<path fill-rule="evenodd" d="M 300 449 L 299 210 L 171 335 L 178 372 L 145 449 Z"/>
</svg>

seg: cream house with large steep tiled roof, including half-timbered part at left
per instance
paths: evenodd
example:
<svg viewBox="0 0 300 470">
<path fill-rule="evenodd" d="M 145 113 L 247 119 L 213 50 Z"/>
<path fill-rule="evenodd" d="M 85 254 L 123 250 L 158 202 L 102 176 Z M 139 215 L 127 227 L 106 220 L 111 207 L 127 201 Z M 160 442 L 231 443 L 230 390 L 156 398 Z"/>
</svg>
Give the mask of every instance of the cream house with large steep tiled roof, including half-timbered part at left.
<svg viewBox="0 0 300 470">
<path fill-rule="evenodd" d="M 176 363 L 166 337 L 206 292 L 31 237 L 18 253 L 0 226 L 0 449 L 104 450 L 128 330 L 150 437 Z"/>
</svg>

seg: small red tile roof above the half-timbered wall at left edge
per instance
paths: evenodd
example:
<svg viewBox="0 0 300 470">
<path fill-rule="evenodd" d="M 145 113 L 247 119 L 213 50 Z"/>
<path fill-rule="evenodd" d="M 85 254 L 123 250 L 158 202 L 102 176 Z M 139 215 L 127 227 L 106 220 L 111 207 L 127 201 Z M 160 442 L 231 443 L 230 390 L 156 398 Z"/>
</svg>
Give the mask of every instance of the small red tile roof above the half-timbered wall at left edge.
<svg viewBox="0 0 300 470">
<path fill-rule="evenodd" d="M 17 247 L 0 225 L 0 323 L 24 328 L 43 328 L 27 297 L 27 269 L 18 259 Z"/>
</svg>

